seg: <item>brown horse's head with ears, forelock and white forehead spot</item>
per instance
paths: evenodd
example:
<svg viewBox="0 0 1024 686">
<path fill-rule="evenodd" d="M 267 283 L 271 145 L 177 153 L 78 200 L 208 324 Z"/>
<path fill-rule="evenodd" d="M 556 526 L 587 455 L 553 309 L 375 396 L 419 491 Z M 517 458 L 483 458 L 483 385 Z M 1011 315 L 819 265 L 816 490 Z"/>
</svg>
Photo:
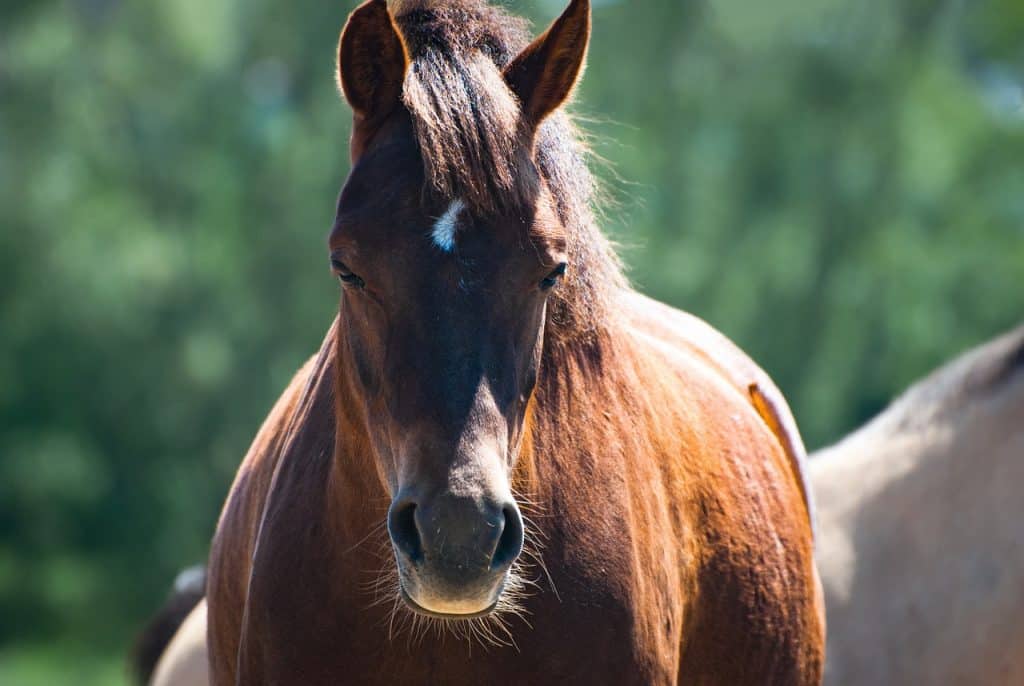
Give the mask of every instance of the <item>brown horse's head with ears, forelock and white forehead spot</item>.
<svg viewBox="0 0 1024 686">
<path fill-rule="evenodd" d="M 338 412 L 366 427 L 391 498 L 402 599 L 443 617 L 490 612 L 522 552 L 511 475 L 549 300 L 573 266 L 536 140 L 590 35 L 589 3 L 573 0 L 502 54 L 460 22 L 468 11 L 481 10 L 371 0 L 349 17 L 337 73 L 352 168 L 329 242 Z"/>
</svg>

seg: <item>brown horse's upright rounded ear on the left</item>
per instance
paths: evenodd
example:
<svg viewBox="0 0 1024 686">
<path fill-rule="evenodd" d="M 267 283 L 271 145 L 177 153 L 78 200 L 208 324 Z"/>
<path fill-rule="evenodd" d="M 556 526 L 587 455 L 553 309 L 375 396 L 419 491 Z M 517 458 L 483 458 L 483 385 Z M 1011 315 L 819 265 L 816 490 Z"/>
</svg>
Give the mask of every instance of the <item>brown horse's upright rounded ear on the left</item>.
<svg viewBox="0 0 1024 686">
<path fill-rule="evenodd" d="M 401 97 L 408 63 L 384 0 L 368 0 L 348 17 L 338 42 L 338 87 L 357 122 L 379 121 Z"/>
</svg>

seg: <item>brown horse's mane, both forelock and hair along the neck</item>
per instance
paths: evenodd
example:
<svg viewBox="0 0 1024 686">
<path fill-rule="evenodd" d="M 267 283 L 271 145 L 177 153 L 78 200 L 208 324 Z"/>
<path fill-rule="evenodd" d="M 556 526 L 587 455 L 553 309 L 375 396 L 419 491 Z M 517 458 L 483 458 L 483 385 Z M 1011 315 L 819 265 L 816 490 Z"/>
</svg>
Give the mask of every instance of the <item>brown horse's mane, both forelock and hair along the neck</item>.
<svg viewBox="0 0 1024 686">
<path fill-rule="evenodd" d="M 528 44 L 527 23 L 481 0 L 407 0 L 389 7 L 409 51 L 402 102 L 429 190 L 484 214 L 515 207 L 530 175 L 521 169 L 519 104 L 502 69 Z M 598 199 L 589 151 L 567 114 L 541 125 L 535 154 L 568 232 L 569 275 L 552 297 L 548 336 L 578 339 L 607 320 L 626 280 L 594 222 Z"/>
</svg>

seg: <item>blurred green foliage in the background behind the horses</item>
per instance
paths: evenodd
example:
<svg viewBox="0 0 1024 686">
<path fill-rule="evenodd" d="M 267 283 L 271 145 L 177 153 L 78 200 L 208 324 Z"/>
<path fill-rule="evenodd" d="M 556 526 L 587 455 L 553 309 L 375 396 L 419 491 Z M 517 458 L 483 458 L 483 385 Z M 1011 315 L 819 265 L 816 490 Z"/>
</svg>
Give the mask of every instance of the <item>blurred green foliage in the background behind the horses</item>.
<svg viewBox="0 0 1024 686">
<path fill-rule="evenodd" d="M 1024 318 L 1024 3 L 595 5 L 606 228 L 812 446 Z M 349 9 L 0 6 L 0 683 L 123 679 L 326 331 Z"/>
</svg>

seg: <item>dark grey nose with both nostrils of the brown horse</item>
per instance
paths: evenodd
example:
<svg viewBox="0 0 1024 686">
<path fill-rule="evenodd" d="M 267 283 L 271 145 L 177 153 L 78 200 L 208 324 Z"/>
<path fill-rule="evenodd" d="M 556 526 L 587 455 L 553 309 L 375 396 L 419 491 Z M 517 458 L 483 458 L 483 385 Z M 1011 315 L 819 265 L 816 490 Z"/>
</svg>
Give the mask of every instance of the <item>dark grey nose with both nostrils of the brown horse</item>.
<svg viewBox="0 0 1024 686">
<path fill-rule="evenodd" d="M 514 501 L 492 504 L 454 496 L 395 499 L 388 511 L 388 533 L 409 562 L 427 564 L 450 577 L 505 571 L 523 543 L 522 516 Z"/>
</svg>

